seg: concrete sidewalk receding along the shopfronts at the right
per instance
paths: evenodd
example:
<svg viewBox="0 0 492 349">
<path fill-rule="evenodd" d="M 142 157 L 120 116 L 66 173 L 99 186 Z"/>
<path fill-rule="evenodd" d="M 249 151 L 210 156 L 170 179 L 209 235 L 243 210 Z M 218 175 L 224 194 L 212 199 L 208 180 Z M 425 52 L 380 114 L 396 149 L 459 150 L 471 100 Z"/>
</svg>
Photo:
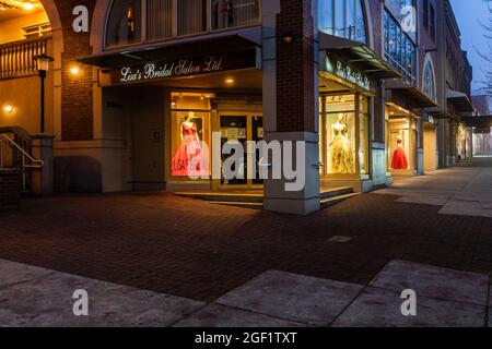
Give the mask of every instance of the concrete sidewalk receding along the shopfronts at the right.
<svg viewBox="0 0 492 349">
<path fill-rule="evenodd" d="M 375 193 L 402 196 L 400 203 L 442 206 L 443 215 L 492 217 L 492 157 L 427 176 L 395 178 L 391 188 Z"/>
</svg>

